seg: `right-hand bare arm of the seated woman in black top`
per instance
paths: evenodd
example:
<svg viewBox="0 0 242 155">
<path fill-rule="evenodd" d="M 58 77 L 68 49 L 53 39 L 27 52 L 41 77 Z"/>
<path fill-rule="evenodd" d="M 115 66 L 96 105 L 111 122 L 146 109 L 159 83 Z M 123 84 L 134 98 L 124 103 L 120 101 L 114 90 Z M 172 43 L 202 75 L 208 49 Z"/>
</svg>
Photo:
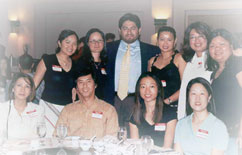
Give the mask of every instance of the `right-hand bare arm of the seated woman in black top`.
<svg viewBox="0 0 242 155">
<path fill-rule="evenodd" d="M 171 120 L 166 124 L 166 131 L 164 137 L 164 148 L 172 148 L 174 136 L 175 136 L 175 129 L 176 129 L 177 120 Z"/>
</svg>

